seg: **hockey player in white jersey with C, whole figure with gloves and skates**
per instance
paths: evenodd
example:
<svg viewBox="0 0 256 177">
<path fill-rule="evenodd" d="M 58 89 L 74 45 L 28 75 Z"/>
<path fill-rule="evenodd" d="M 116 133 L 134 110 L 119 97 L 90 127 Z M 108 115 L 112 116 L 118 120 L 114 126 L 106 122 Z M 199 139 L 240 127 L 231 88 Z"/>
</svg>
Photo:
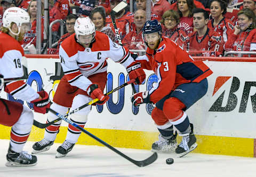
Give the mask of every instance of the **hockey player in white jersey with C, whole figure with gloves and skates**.
<svg viewBox="0 0 256 177">
<path fill-rule="evenodd" d="M 69 107 L 72 111 L 95 98 L 99 99 L 97 104 L 106 103 L 109 97 L 103 95 L 103 90 L 107 82 L 107 58 L 127 68 L 130 79 L 137 79 L 137 84 L 141 84 L 146 78 L 143 69 L 134 62 L 130 52 L 112 42 L 107 35 L 95 31 L 94 24 L 88 17 L 76 20 L 75 34 L 61 43 L 59 56 L 65 76 L 61 78 L 55 92 L 51 109 L 61 115 L 65 115 Z M 72 114 L 70 119 L 84 127 L 90 111 L 91 106 L 87 106 Z M 57 118 L 49 112 L 47 122 Z M 60 124 L 61 120 L 45 129 L 44 139 L 33 145 L 33 153 L 50 149 Z M 66 156 L 80 134 L 81 131 L 68 125 L 66 140 L 58 147 L 56 157 Z"/>
</svg>

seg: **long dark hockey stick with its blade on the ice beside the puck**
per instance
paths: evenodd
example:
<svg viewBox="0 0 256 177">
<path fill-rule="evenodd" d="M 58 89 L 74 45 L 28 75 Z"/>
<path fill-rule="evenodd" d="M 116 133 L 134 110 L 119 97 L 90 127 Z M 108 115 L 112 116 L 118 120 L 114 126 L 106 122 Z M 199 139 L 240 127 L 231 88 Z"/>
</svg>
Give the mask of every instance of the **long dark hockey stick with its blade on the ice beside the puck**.
<svg viewBox="0 0 256 177">
<path fill-rule="evenodd" d="M 53 114 L 55 114 L 56 116 L 58 116 L 59 118 L 65 120 L 67 123 L 69 123 L 70 125 L 76 127 L 78 130 L 81 130 L 82 132 L 86 133 L 87 135 L 91 136 L 91 138 L 93 138 L 94 140 L 97 140 L 98 142 L 100 142 L 101 144 L 103 144 L 104 146 L 108 147 L 109 149 L 113 150 L 114 152 L 116 152 L 117 154 L 119 154 L 120 156 L 124 157 L 125 159 L 129 160 L 131 163 L 142 167 L 142 166 L 147 166 L 153 162 L 155 162 L 155 160 L 157 159 L 157 153 L 154 152 L 153 155 L 151 155 L 150 157 L 148 157 L 145 160 L 141 160 L 141 161 L 137 161 L 134 160 L 128 156 L 126 156 L 125 154 L 123 154 L 121 151 L 117 150 L 116 148 L 114 148 L 113 146 L 110 146 L 108 143 L 106 143 L 105 141 L 102 141 L 101 139 L 99 139 L 97 136 L 91 134 L 90 132 L 86 131 L 84 128 L 82 128 L 81 126 L 77 125 L 76 123 L 74 123 L 72 120 L 68 119 L 66 116 L 62 116 L 60 115 L 58 112 L 50 109 L 50 112 L 52 112 Z"/>
</svg>

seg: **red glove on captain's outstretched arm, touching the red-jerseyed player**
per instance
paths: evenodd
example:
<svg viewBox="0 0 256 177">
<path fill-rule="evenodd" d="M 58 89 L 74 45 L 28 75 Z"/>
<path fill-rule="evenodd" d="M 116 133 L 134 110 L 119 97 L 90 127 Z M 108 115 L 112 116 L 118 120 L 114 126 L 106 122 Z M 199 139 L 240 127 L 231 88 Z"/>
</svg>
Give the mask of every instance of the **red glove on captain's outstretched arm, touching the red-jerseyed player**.
<svg viewBox="0 0 256 177">
<path fill-rule="evenodd" d="M 130 80 L 135 79 L 136 84 L 140 85 L 145 80 L 146 74 L 141 68 L 141 63 L 132 62 L 126 69 L 129 73 Z"/>
</svg>

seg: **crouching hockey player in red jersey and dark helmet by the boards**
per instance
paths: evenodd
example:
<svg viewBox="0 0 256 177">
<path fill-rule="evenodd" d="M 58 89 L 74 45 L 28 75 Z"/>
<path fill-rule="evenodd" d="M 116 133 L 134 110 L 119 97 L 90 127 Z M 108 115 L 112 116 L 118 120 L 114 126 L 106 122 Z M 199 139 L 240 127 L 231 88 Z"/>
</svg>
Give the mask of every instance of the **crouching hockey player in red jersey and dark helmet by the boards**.
<svg viewBox="0 0 256 177">
<path fill-rule="evenodd" d="M 154 103 L 156 107 L 151 112 L 159 132 L 159 141 L 152 144 L 156 152 L 171 152 L 176 147 L 175 126 L 182 141 L 175 149 L 183 156 L 195 149 L 196 137 L 193 124 L 189 123 L 185 112 L 207 91 L 207 76 L 212 71 L 202 61 L 195 61 L 186 51 L 171 39 L 162 38 L 162 27 L 157 20 L 147 21 L 142 29 L 143 38 L 148 46 L 146 55 L 136 61 L 141 67 L 153 70 L 158 81 L 149 91 L 136 93 L 131 101 L 135 106 L 142 103 Z"/>
</svg>

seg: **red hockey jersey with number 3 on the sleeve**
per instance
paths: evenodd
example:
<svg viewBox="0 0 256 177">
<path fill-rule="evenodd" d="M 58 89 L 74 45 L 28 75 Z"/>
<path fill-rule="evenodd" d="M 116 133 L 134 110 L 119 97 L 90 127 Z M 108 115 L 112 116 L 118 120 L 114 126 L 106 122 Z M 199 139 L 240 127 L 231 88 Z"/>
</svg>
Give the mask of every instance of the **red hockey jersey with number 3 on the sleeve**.
<svg viewBox="0 0 256 177">
<path fill-rule="evenodd" d="M 157 83 L 149 91 L 150 101 L 156 103 L 177 86 L 201 82 L 212 74 L 202 61 L 195 61 L 171 39 L 164 37 L 157 50 L 147 49 L 146 55 L 138 57 L 143 69 L 153 70 Z"/>
</svg>

